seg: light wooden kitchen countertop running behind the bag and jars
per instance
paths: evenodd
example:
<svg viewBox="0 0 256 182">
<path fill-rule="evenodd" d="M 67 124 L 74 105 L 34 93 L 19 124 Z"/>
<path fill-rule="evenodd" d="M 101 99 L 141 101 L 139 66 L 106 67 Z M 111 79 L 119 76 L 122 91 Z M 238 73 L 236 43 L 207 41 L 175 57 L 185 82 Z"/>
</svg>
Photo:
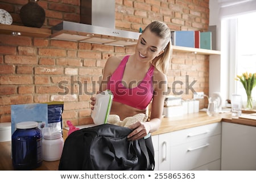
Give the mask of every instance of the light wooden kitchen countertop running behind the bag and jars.
<svg viewBox="0 0 256 182">
<path fill-rule="evenodd" d="M 181 117 L 163 118 L 161 126 L 158 131 L 152 133 L 152 135 L 158 135 L 168 133 L 171 131 L 177 131 L 182 129 L 188 129 L 190 127 L 208 125 L 215 122 L 232 122 L 241 125 L 249 125 L 256 127 L 256 120 L 232 118 L 231 113 L 218 114 L 216 117 L 209 117 L 205 112 L 186 114 Z M 63 137 L 67 137 L 67 130 L 64 130 Z M 14 170 L 11 161 L 11 141 L 0 142 L 0 170 Z M 59 160 L 55 162 L 43 161 L 42 166 L 35 170 L 51 170 L 56 171 L 59 167 Z"/>
</svg>

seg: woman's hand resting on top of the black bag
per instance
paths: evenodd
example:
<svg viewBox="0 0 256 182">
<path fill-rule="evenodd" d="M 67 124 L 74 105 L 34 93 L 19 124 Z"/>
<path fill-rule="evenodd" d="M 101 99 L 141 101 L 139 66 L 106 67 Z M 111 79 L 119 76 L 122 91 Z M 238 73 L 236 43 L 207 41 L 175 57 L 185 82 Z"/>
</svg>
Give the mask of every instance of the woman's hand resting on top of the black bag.
<svg viewBox="0 0 256 182">
<path fill-rule="evenodd" d="M 132 129 L 133 131 L 127 136 L 128 140 L 138 140 L 149 133 L 150 126 L 148 122 L 136 122 L 129 126 L 129 129 Z"/>
</svg>

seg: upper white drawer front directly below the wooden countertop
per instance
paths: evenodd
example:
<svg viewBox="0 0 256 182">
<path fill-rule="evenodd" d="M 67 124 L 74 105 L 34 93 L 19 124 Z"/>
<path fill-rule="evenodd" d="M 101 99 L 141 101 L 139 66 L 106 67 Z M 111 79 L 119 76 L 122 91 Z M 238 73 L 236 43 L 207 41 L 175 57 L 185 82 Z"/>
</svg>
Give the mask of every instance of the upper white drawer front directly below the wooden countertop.
<svg viewBox="0 0 256 182">
<path fill-rule="evenodd" d="M 221 134 L 221 122 L 171 132 L 171 146 Z"/>
</svg>

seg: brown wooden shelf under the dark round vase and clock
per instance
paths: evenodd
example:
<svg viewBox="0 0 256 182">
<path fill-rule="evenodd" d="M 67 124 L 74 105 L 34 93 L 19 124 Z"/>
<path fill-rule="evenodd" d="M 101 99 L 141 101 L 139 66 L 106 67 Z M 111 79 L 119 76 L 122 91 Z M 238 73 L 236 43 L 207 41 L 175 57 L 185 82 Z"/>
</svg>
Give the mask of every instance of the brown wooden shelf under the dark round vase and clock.
<svg viewBox="0 0 256 182">
<path fill-rule="evenodd" d="M 46 28 L 0 24 L 0 34 L 48 38 L 51 35 L 51 30 Z"/>
</svg>

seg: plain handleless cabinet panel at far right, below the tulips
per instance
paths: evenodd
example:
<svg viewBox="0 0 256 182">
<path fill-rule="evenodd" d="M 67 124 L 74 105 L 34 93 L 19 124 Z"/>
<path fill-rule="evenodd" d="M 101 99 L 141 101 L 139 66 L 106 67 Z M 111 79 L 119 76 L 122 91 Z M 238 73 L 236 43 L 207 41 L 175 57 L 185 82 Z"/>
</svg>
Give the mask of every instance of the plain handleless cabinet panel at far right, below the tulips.
<svg viewBox="0 0 256 182">
<path fill-rule="evenodd" d="M 221 170 L 256 170 L 256 127 L 222 122 Z"/>
</svg>

